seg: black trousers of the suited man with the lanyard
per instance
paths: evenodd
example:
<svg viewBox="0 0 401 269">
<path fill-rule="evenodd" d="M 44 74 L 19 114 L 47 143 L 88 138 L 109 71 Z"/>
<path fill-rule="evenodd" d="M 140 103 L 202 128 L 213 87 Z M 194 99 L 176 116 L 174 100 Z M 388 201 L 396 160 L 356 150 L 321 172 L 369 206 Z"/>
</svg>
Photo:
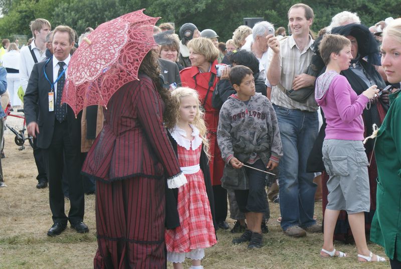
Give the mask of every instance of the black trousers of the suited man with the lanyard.
<svg viewBox="0 0 401 269">
<path fill-rule="evenodd" d="M 64 194 L 62 188 L 62 174 L 64 156 L 68 173 L 70 196 L 70 211 L 68 218 L 64 213 Z M 54 223 L 67 224 L 67 220 L 74 224 L 82 221 L 85 210 L 85 197 L 82 186 L 80 145 L 73 145 L 69 136 L 67 120 L 55 120 L 52 142 L 48 149 L 43 150 L 47 175 L 49 180 L 49 202 Z"/>
</svg>

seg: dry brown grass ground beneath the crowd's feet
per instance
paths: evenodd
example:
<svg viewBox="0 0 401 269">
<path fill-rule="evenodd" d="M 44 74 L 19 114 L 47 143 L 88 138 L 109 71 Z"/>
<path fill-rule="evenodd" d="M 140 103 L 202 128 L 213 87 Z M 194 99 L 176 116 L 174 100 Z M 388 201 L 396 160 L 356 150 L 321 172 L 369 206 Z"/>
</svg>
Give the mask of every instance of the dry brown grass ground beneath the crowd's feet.
<svg viewBox="0 0 401 269">
<path fill-rule="evenodd" d="M 85 198 L 85 223 L 88 234 L 68 228 L 60 236 L 48 237 L 52 223 L 48 189 L 35 188 L 37 170 L 32 149 L 18 151 L 14 135 L 6 132 L 6 159 L 3 171 L 7 188 L 0 189 L 0 268 L 91 268 L 97 248 L 95 236 L 94 196 Z M 66 209 L 69 204 L 66 201 Z M 321 203 L 315 213 L 321 219 Z M 218 231 L 219 242 L 206 250 L 205 268 L 388 268 L 389 263 L 358 263 L 354 245 L 337 243 L 337 249 L 348 252 L 348 258 L 320 258 L 322 234 L 305 238 L 285 236 L 276 221 L 280 214 L 271 204 L 270 233 L 264 235 L 264 247 L 247 250 L 246 245 L 233 245 L 235 236 Z M 230 221 L 230 220 L 229 220 Z M 233 225 L 231 223 L 231 225 Z M 380 246 L 369 244 L 375 253 L 385 256 Z M 190 266 L 185 262 L 184 268 Z M 168 268 L 172 268 L 171 264 Z"/>
</svg>

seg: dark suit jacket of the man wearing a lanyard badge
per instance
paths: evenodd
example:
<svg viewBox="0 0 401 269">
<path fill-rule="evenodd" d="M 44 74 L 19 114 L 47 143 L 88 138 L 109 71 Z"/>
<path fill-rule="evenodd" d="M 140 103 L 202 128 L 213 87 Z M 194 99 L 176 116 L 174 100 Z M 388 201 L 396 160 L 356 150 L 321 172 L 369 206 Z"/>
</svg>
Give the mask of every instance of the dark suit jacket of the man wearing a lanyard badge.
<svg viewBox="0 0 401 269">
<path fill-rule="evenodd" d="M 39 133 L 37 135 L 37 146 L 41 149 L 50 147 L 53 138 L 55 111 L 49 111 L 49 92 L 51 84 L 45 78 L 45 69 L 48 79 L 53 83 L 53 58 L 47 61 L 36 63 L 29 77 L 27 91 L 24 96 L 24 113 L 27 125 L 37 122 Z M 61 96 L 57 96 L 61 98 Z M 38 116 L 36 109 L 39 109 Z M 77 118 L 73 110 L 67 105 L 68 132 L 73 145 L 79 147 L 81 143 L 81 113 Z"/>
</svg>

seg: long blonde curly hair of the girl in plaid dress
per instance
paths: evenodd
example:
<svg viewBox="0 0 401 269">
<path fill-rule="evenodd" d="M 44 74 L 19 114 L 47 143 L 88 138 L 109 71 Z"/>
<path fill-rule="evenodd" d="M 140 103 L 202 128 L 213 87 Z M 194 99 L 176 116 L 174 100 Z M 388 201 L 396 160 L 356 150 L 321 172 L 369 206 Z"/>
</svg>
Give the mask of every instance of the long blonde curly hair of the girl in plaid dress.
<svg viewBox="0 0 401 269">
<path fill-rule="evenodd" d="M 199 94 L 196 90 L 188 88 L 188 87 L 178 87 L 171 91 L 171 97 L 174 100 L 175 106 L 173 109 L 168 113 L 167 117 L 165 118 L 165 125 L 168 129 L 173 128 L 175 124 L 177 124 L 179 120 L 179 108 L 181 105 L 181 98 L 192 96 L 196 99 L 197 107 L 196 107 L 196 115 L 193 121 L 191 122 L 196 128 L 199 129 L 199 136 L 202 139 L 204 144 L 204 150 L 208 158 L 210 159 L 211 155 L 209 153 L 209 140 L 208 140 L 208 129 L 205 123 L 205 114 L 200 110 L 200 101 L 199 101 Z"/>
</svg>

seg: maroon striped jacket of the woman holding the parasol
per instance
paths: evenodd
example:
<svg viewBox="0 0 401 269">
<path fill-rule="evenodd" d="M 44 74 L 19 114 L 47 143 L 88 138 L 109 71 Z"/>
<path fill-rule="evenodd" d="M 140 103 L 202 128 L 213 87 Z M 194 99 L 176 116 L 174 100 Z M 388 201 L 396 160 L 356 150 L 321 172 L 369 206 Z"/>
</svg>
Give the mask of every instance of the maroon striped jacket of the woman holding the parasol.
<svg viewBox="0 0 401 269">
<path fill-rule="evenodd" d="M 163 102 L 152 80 L 139 75 L 104 110 L 105 123 L 82 171 L 103 181 L 172 177 L 181 172 L 163 126 Z M 165 173 L 164 173 L 165 172 Z"/>
</svg>

